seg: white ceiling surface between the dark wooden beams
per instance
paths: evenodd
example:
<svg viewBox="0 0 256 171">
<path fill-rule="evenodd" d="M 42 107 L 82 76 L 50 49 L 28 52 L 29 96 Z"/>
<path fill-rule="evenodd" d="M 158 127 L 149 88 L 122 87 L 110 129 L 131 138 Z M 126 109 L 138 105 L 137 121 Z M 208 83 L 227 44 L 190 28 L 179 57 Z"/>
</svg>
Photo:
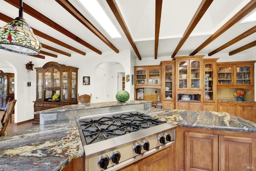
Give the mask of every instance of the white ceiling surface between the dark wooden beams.
<svg viewBox="0 0 256 171">
<path fill-rule="evenodd" d="M 19 4 L 18 0 L 0 0 L 0 13 L 10 18 L 16 18 L 18 16 L 18 8 L 14 7 L 12 3 L 8 3 L 9 1 L 17 1 L 16 3 Z M 23 17 L 32 28 L 84 53 L 98 53 L 101 55 L 104 52 L 113 51 L 113 48 L 110 48 L 110 46 L 86 28 L 80 21 L 64 9 L 58 1 L 65 2 L 67 0 L 23 0 L 24 4 L 34 8 L 34 10 L 42 14 L 39 18 L 38 16 L 31 16 L 26 12 L 26 5 L 23 5 Z M 134 52 L 134 48 L 128 41 L 125 31 L 122 30 L 107 1 L 108 0 L 99 0 L 100 4 L 104 7 L 107 14 L 122 34 L 122 38 L 111 39 L 104 29 L 99 26 L 99 24 L 92 18 L 92 16 L 90 16 L 90 14 L 88 14 L 77 0 L 68 0 L 67 2 L 70 2 L 74 8 L 89 20 L 89 22 L 102 33 L 102 36 L 104 36 L 114 46 L 114 48 L 119 51 L 131 49 L 132 52 Z M 157 58 L 170 56 L 170 60 L 172 59 L 171 56 L 174 53 L 174 50 L 182 39 L 184 32 L 190 24 L 190 21 L 201 2 L 202 0 L 162 0 Z M 201 20 L 178 50 L 176 56 L 190 55 L 249 2 L 252 4 L 254 3 L 254 10 L 252 10 L 252 12 L 255 11 L 256 0 L 213 0 Z M 116 4 L 142 60 L 146 60 L 148 57 L 154 57 L 156 0 L 116 0 Z M 250 14 L 252 12 L 250 12 Z M 70 32 L 72 35 L 76 36 L 77 39 L 72 39 L 69 36 L 64 35 L 64 33 L 61 33 L 60 30 L 56 30 L 52 28 L 52 26 L 48 26 L 44 22 L 40 21 L 40 18 L 45 19 L 48 23 L 57 27 L 62 27 L 66 30 L 66 33 Z M 0 18 L 0 27 L 5 24 L 6 22 Z M 207 55 L 255 25 L 256 22 L 240 23 L 240 21 L 238 21 L 196 54 Z M 57 44 L 54 41 L 47 40 L 40 36 L 38 36 L 38 38 L 40 42 L 47 45 L 42 48 L 42 51 L 46 52 L 44 54 L 40 54 L 42 56 L 46 56 L 47 53 L 54 54 L 56 56 L 60 54 L 60 52 L 55 52 L 52 49 L 47 48 L 48 46 L 66 52 L 70 54 L 71 57 L 72 54 L 78 53 L 71 48 Z M 88 48 L 81 44 L 81 42 L 79 42 L 80 40 L 90 44 L 96 50 L 101 52 L 101 54 L 99 52 L 95 52 L 92 48 Z M 250 36 L 247 36 L 239 42 L 221 50 L 219 53 L 226 53 L 228 55 L 229 52 L 254 42 L 255 40 L 256 33 L 254 32 Z M 255 50 L 256 46 L 239 52 L 238 54 L 245 54 Z M 136 52 L 134 52 L 134 54 L 137 58 L 138 55 Z M 214 58 L 214 55 L 212 55 L 212 58 Z"/>
</svg>

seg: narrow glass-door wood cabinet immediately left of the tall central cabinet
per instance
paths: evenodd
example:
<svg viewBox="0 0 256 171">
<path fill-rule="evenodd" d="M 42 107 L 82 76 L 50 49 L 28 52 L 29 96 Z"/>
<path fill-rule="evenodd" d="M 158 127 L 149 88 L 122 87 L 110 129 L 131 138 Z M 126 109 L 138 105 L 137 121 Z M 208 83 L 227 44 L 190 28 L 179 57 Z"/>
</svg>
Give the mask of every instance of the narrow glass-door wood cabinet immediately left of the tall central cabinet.
<svg viewBox="0 0 256 171">
<path fill-rule="evenodd" d="M 175 61 L 161 61 L 163 109 L 175 107 Z"/>
</svg>

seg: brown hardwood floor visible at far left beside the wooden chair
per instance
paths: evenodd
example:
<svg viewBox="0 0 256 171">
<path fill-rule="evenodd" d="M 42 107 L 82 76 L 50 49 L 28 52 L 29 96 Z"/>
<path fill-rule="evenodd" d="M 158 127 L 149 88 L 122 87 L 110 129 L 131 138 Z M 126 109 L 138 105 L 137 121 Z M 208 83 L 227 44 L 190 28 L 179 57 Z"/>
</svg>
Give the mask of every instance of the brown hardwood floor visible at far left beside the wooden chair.
<svg viewBox="0 0 256 171">
<path fill-rule="evenodd" d="M 0 119 L 2 119 L 3 114 L 4 114 L 4 111 L 0 110 Z M 8 132 L 8 134 L 10 134 L 10 133 L 14 133 L 14 132 L 17 132 L 17 131 L 20 131 L 22 129 L 26 129 L 26 128 L 32 127 L 32 126 L 33 126 L 32 121 L 22 123 L 20 125 L 14 125 L 14 114 L 12 114 L 12 123 L 10 123 L 10 122 L 8 123 L 6 131 Z"/>
</svg>

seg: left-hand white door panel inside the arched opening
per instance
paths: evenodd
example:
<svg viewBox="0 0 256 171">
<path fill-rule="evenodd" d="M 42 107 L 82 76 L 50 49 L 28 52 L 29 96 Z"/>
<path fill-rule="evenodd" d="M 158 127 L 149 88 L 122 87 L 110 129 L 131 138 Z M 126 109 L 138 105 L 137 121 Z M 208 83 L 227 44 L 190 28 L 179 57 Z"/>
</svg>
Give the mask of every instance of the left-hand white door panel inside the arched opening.
<svg viewBox="0 0 256 171">
<path fill-rule="evenodd" d="M 104 70 L 97 68 L 96 69 L 96 102 L 104 101 Z"/>
</svg>

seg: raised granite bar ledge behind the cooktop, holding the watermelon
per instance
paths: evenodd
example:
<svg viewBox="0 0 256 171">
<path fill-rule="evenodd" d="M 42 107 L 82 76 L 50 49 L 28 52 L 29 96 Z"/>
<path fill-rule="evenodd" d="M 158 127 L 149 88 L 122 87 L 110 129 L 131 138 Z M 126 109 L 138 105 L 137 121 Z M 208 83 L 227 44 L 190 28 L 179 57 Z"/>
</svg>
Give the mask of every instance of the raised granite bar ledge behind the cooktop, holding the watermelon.
<svg viewBox="0 0 256 171">
<path fill-rule="evenodd" d="M 54 113 L 54 112 L 82 110 L 82 109 L 95 109 L 95 108 L 101 108 L 101 107 L 112 107 L 112 106 L 120 106 L 120 105 L 134 105 L 134 104 L 151 103 L 151 102 L 152 101 L 145 101 L 145 100 L 128 100 L 126 102 L 110 101 L 110 102 L 101 102 L 101 103 L 86 103 L 86 104 L 65 105 L 65 106 L 62 106 L 62 107 L 56 107 L 56 108 L 52 108 L 52 109 L 37 111 L 37 112 L 34 112 L 34 114 Z"/>
</svg>

